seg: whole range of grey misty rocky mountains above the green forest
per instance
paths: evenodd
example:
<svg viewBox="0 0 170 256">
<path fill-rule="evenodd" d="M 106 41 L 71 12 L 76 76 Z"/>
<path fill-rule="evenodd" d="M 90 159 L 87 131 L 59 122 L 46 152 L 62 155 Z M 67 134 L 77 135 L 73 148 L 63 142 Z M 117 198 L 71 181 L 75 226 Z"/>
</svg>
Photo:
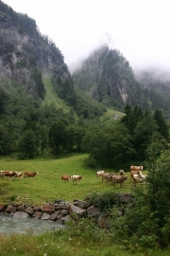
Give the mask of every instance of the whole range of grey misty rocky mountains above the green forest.
<svg viewBox="0 0 170 256">
<path fill-rule="evenodd" d="M 51 78 L 58 96 L 74 106 L 76 90 L 87 97 L 123 111 L 126 104 L 139 105 L 154 111 L 161 108 L 166 117 L 170 109 L 168 72 L 158 69 L 131 68 L 117 49 L 104 43 L 94 49 L 86 60 L 73 66 L 72 75 L 59 48 L 42 35 L 36 22 L 26 14 L 17 13 L 0 1 L 0 78 L 20 82 L 26 92 L 37 100 L 45 98 L 43 78 Z M 90 107 L 92 108 L 92 106 Z M 87 112 L 77 111 L 79 115 Z M 86 117 L 90 115 L 90 109 Z"/>
</svg>

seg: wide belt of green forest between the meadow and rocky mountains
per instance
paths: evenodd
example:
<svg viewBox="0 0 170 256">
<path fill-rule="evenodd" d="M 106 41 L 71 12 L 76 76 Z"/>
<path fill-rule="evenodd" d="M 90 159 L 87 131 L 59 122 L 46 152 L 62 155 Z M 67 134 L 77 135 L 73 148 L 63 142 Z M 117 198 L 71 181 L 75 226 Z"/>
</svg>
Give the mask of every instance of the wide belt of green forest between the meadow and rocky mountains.
<svg viewBox="0 0 170 256">
<path fill-rule="evenodd" d="M 2 84 L 0 155 L 32 158 L 83 151 L 90 155 L 86 164 L 93 168 L 126 168 L 130 162 L 144 162 L 153 135 L 164 144 L 168 141 L 169 127 L 158 108 L 152 115 L 126 105 L 122 119 L 100 121 L 105 108 L 86 96 L 78 98 L 75 93 L 75 108 L 64 113 L 54 103 L 26 96 L 25 87 L 17 82 Z"/>
</svg>

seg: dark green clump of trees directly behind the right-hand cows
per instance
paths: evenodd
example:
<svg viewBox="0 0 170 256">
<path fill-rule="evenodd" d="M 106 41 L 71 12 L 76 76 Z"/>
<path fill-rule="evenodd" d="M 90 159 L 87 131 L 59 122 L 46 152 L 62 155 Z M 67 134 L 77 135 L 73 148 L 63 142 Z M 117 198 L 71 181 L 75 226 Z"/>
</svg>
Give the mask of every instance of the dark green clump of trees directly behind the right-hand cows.
<svg viewBox="0 0 170 256">
<path fill-rule="evenodd" d="M 83 150 L 90 153 L 88 165 L 112 168 L 127 168 L 130 162 L 141 165 L 153 137 L 157 137 L 159 149 L 167 145 L 169 127 L 158 108 L 152 115 L 127 104 L 125 114 L 116 124 L 110 121 L 89 127 L 82 141 Z"/>
</svg>

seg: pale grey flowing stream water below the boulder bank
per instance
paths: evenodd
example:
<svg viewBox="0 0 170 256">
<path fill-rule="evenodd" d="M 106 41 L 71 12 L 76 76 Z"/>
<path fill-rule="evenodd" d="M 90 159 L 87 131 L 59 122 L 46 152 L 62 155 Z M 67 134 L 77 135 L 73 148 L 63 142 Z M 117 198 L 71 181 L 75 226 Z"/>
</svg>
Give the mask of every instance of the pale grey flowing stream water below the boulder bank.
<svg viewBox="0 0 170 256">
<path fill-rule="evenodd" d="M 37 218 L 16 219 L 5 214 L 0 214 L 1 234 L 26 234 L 27 232 L 39 234 L 46 231 L 52 232 L 56 229 L 63 229 L 63 225 L 59 225 L 48 220 L 40 220 Z"/>
</svg>

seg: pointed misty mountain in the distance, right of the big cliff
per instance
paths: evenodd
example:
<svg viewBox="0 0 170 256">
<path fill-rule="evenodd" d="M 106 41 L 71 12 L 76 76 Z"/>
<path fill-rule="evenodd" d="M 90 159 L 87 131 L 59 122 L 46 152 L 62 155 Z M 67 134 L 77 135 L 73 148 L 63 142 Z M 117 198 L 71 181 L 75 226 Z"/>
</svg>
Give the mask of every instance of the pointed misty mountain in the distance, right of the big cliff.
<svg viewBox="0 0 170 256">
<path fill-rule="evenodd" d="M 148 75 L 150 74 L 150 75 Z M 123 110 L 128 103 L 154 111 L 161 108 L 167 118 L 170 110 L 170 82 L 153 80 L 148 72 L 138 76 L 127 59 L 116 49 L 101 46 L 73 74 L 76 88 L 107 107 Z M 146 81 L 147 78 L 147 81 Z M 151 79 L 152 78 L 152 79 Z"/>
</svg>

